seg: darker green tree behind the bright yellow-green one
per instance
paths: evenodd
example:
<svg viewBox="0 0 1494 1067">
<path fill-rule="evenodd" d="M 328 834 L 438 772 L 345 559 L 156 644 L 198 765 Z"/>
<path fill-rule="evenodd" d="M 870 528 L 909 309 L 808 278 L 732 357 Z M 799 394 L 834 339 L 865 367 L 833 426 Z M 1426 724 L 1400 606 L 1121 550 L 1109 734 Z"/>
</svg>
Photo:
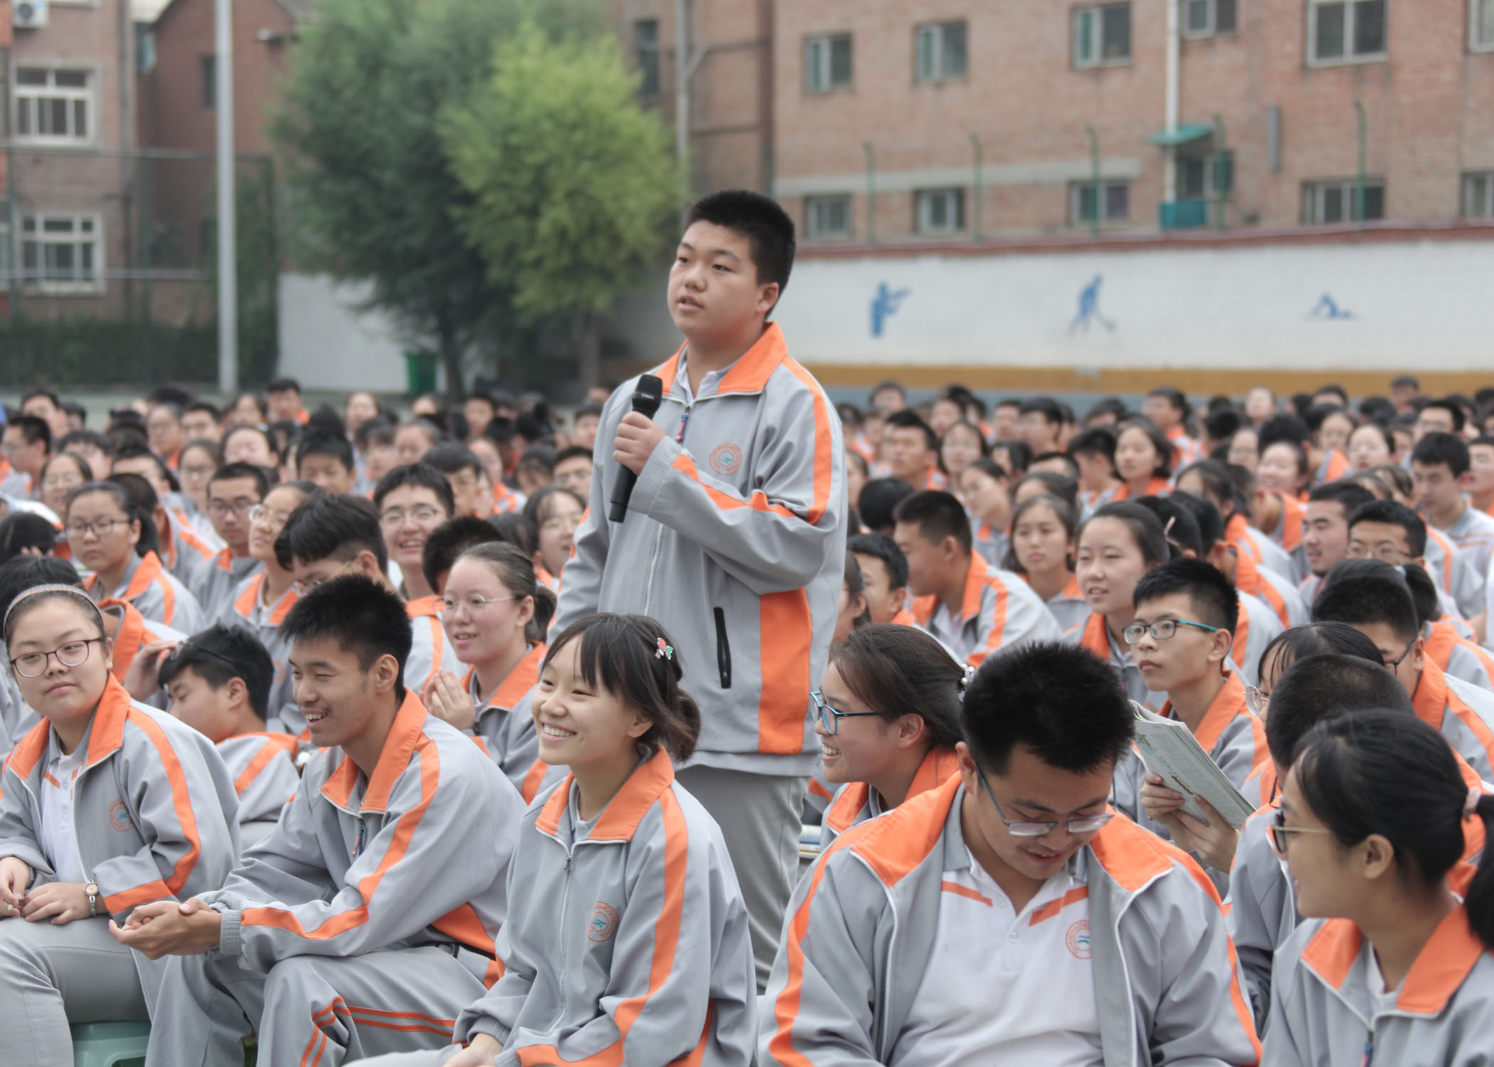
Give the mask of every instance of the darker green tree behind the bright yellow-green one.
<svg viewBox="0 0 1494 1067">
<path fill-rule="evenodd" d="M 345 281 L 432 344 L 447 381 L 502 333 L 495 288 L 460 229 L 471 196 L 447 164 L 436 115 L 492 73 L 496 42 L 533 24 L 601 31 L 598 0 L 318 0 L 297 45 L 273 134 L 287 155 L 294 254 Z"/>
</svg>

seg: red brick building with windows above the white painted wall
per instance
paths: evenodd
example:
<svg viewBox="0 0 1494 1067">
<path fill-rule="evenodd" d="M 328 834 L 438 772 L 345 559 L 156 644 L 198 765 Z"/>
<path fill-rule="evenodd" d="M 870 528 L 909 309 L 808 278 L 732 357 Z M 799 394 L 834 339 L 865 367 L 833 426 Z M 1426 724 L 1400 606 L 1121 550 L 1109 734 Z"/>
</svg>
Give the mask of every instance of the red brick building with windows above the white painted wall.
<svg viewBox="0 0 1494 1067">
<path fill-rule="evenodd" d="M 1171 121 L 1168 7 L 780 4 L 774 191 L 855 244 L 1494 215 L 1490 0 L 1177 0 Z"/>
</svg>

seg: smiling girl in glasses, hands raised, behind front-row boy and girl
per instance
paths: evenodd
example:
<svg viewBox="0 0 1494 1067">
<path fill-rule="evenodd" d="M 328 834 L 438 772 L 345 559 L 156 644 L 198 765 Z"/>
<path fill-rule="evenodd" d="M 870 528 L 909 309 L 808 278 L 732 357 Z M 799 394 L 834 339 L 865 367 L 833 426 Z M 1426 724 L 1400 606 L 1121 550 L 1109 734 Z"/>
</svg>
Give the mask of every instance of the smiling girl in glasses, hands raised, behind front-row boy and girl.
<svg viewBox="0 0 1494 1067">
<path fill-rule="evenodd" d="M 529 702 L 554 607 L 554 593 L 535 580 L 523 551 L 498 541 L 468 548 L 451 565 L 438 601 L 466 677 L 438 671 L 421 695 L 433 716 L 478 740 L 524 801 L 535 798 L 550 770 L 539 762 Z"/>
</svg>

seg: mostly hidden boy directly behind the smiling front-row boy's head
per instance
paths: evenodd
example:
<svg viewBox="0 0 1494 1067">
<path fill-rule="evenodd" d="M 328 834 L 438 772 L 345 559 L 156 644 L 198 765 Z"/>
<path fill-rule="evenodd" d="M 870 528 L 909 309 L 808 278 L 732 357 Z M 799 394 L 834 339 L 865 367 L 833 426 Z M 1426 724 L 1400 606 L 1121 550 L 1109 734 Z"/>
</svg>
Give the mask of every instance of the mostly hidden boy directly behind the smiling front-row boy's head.
<svg viewBox="0 0 1494 1067">
<path fill-rule="evenodd" d="M 378 511 L 372 501 L 351 493 L 318 493 L 296 508 L 275 538 L 275 559 L 296 575 L 300 596 L 329 578 L 350 572 L 363 574 L 394 592 Z M 460 665 L 441 629 L 435 598 L 411 601 L 405 607 L 414 628 L 405 684 L 420 693 L 436 671 L 459 671 Z"/>
</svg>

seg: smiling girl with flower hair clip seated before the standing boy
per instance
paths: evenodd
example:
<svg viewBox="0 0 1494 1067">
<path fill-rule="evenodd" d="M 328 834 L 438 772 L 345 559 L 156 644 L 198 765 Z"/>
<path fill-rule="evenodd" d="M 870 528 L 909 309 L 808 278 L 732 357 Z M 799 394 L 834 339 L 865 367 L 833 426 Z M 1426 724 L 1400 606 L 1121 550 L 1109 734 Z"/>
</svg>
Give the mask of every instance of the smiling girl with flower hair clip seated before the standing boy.
<svg viewBox="0 0 1494 1067">
<path fill-rule="evenodd" d="M 701 729 L 681 677 L 644 616 L 587 616 L 554 640 L 532 707 L 541 759 L 569 774 L 518 829 L 502 977 L 457 1018 L 457 1045 L 365 1063 L 754 1061 L 747 907 L 720 828 L 674 777 Z"/>
</svg>

